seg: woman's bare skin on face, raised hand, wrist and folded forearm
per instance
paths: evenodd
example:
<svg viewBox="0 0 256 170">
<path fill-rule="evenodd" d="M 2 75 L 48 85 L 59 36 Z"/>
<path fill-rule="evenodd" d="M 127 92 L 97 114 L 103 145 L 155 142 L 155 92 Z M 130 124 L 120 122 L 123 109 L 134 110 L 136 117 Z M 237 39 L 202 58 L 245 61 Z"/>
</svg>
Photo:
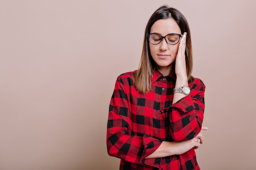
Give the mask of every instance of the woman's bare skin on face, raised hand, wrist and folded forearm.
<svg viewBox="0 0 256 170">
<path fill-rule="evenodd" d="M 165 36 L 169 33 L 181 34 L 181 30 L 177 22 L 173 18 L 157 20 L 151 27 L 150 33 L 159 33 Z M 185 49 L 186 49 L 186 33 L 182 35 L 180 41 L 175 45 L 167 44 L 163 39 L 159 44 L 149 44 L 150 54 L 157 64 L 156 68 L 164 76 L 171 73 L 175 61 L 176 84 L 175 88 L 188 85 L 186 75 Z M 174 93 L 173 103 L 185 97 L 183 93 Z M 208 128 L 202 126 L 202 130 Z M 203 136 L 200 132 L 195 138 L 187 141 L 163 141 L 162 144 L 148 158 L 167 157 L 171 155 L 183 154 L 192 148 L 198 149 L 203 144 Z"/>
</svg>

